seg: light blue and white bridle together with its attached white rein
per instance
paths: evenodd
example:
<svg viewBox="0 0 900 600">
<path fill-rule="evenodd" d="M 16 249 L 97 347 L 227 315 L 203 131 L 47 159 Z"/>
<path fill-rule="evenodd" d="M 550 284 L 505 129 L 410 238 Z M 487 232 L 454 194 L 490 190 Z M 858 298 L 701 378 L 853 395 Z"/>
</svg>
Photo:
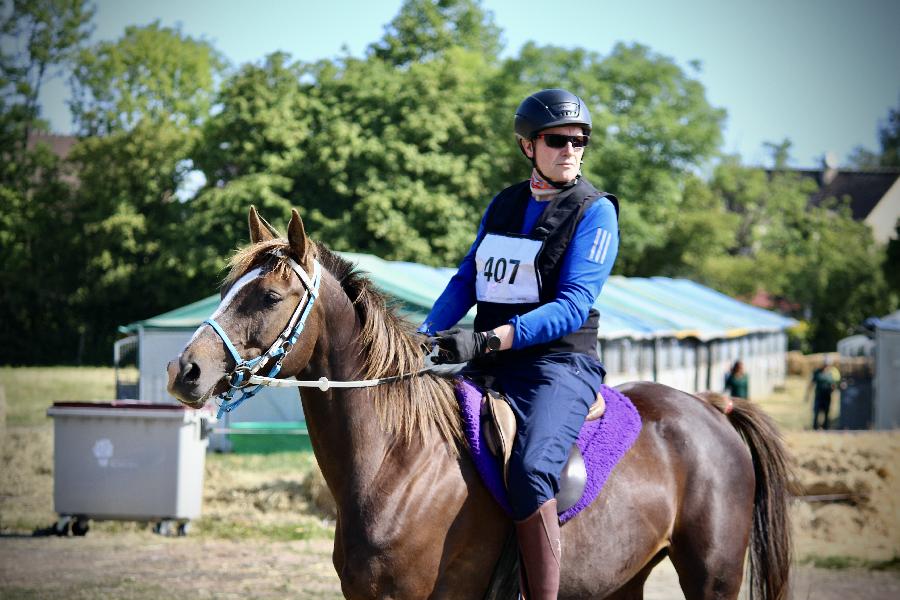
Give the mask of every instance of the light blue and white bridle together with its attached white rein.
<svg viewBox="0 0 900 600">
<path fill-rule="evenodd" d="M 222 338 L 222 341 L 225 342 L 225 346 L 228 348 L 228 351 L 231 353 L 231 356 L 235 361 L 234 369 L 232 369 L 231 373 L 225 376 L 225 379 L 228 380 L 228 391 L 222 392 L 221 394 L 216 396 L 221 401 L 221 403 L 219 404 L 219 411 L 216 413 L 217 419 L 221 419 L 223 415 L 225 415 L 226 413 L 230 413 L 235 408 L 243 404 L 246 400 L 255 396 L 263 387 L 308 387 L 319 388 L 322 391 L 327 391 L 330 388 L 374 387 L 385 383 L 399 381 L 401 379 L 415 377 L 431 370 L 430 368 L 426 367 L 413 373 L 404 373 L 402 375 L 391 375 L 389 377 L 381 377 L 379 379 L 363 379 L 358 381 L 331 381 L 327 377 L 320 377 L 315 381 L 276 379 L 275 376 L 281 371 L 281 366 L 284 362 L 284 359 L 287 357 L 287 354 L 294 348 L 294 345 L 297 343 L 297 338 L 300 337 L 300 334 L 303 332 L 303 327 L 306 324 L 306 318 L 309 316 L 309 313 L 312 311 L 313 304 L 319 297 L 319 285 L 322 282 L 322 266 L 319 264 L 318 260 L 313 261 L 313 276 L 312 280 L 310 280 L 306 272 L 300 268 L 300 265 L 298 265 L 296 261 L 294 261 L 294 259 L 289 256 L 286 256 L 285 258 L 287 258 L 291 269 L 297 274 L 297 277 L 300 278 L 300 282 L 303 284 L 303 298 L 300 299 L 300 302 L 294 309 L 291 318 L 288 320 L 287 326 L 284 328 L 281 334 L 279 334 L 279 336 L 275 338 L 275 341 L 271 346 L 269 346 L 269 349 L 265 353 L 252 359 L 245 360 L 241 358 L 240 353 L 238 353 L 237 349 L 234 347 L 234 344 L 228 338 L 228 334 L 225 333 L 224 329 L 222 329 L 222 326 L 219 325 L 212 317 L 204 321 L 205 324 L 212 327 L 213 331 L 215 331 L 219 335 L 219 337 Z M 275 359 L 276 362 L 274 365 L 272 365 L 272 368 L 269 370 L 268 374 L 265 376 L 257 375 L 257 373 L 263 368 L 263 366 L 273 359 Z M 256 387 L 254 387 L 252 390 L 245 389 L 251 385 L 255 385 Z M 241 396 L 236 400 L 233 400 L 234 395 L 238 391 L 241 392 Z"/>
</svg>

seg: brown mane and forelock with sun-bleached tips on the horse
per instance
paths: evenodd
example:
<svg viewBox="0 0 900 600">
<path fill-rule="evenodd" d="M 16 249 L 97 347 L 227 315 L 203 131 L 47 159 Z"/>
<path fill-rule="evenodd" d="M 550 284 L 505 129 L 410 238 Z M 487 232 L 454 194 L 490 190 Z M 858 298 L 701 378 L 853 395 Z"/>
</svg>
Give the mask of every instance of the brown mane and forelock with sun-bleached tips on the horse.
<svg viewBox="0 0 900 600">
<path fill-rule="evenodd" d="M 287 247 L 284 239 L 273 239 L 238 250 L 229 261 L 226 284 L 264 260 L 273 261 L 272 270 L 279 276 L 289 277 L 292 270 L 284 256 L 286 252 L 277 252 L 272 257 L 273 252 L 286 251 Z M 340 283 L 362 323 L 359 346 L 363 360 L 356 376 L 376 379 L 421 369 L 423 354 L 414 326 L 397 315 L 386 296 L 355 264 L 320 243 L 316 243 L 315 250 L 316 258 Z M 462 443 L 459 405 L 449 380 L 425 373 L 369 389 L 378 416 L 389 433 L 409 443 L 415 436 L 425 441 L 430 432 L 437 430 L 454 452 Z"/>
</svg>

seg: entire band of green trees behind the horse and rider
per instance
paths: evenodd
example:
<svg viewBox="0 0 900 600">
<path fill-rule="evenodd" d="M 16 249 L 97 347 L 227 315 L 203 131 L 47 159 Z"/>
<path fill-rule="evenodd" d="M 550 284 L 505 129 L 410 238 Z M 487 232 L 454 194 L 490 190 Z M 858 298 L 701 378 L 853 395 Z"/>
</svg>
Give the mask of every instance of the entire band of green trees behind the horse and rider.
<svg viewBox="0 0 900 600">
<path fill-rule="evenodd" d="M 528 43 L 501 60 L 478 0 L 406 0 L 363 57 L 274 53 L 226 76 L 177 28 L 129 27 L 79 51 L 84 1 L 13 4 L 0 37 L 24 50 L 0 54 L 0 269 L 13 282 L 0 318 L 17 326 L 0 331 L 2 362 L 105 362 L 118 325 L 216 287 L 251 204 L 282 228 L 297 207 L 336 250 L 454 264 L 491 197 L 528 176 L 513 115 L 546 87 L 593 115 L 583 172 L 621 200 L 617 272 L 765 291 L 808 317 L 820 349 L 900 294 L 897 245 L 885 261 L 846 207 L 807 207 L 815 184 L 779 170 L 790 140 L 768 145 L 774 174 L 717 157 L 724 111 L 641 44 Z M 81 139 L 61 160 L 25 140 L 40 82 L 72 60 Z M 879 161 L 892 160 L 895 117 Z M 185 198 L 192 169 L 206 183 Z"/>
</svg>

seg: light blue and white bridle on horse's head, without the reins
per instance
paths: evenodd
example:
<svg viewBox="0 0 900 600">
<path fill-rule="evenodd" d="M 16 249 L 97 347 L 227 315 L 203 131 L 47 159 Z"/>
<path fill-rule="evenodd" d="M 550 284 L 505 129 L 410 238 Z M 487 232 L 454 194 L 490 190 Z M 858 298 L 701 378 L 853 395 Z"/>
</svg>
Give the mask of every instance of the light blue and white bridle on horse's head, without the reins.
<svg viewBox="0 0 900 600">
<path fill-rule="evenodd" d="M 221 419 L 225 413 L 233 411 L 243 404 L 245 400 L 252 398 L 259 392 L 260 388 L 263 387 L 261 384 L 251 390 L 245 388 L 250 385 L 250 378 L 256 375 L 256 373 L 269 361 L 274 360 L 275 364 L 272 365 L 272 368 L 269 370 L 266 377 L 275 377 L 278 375 L 281 371 L 281 365 L 284 362 L 285 357 L 294 347 L 294 344 L 297 343 L 297 338 L 300 337 L 303 326 L 306 324 L 306 318 L 312 311 L 313 304 L 319 296 L 319 284 L 322 281 L 322 267 L 319 264 L 319 261 L 313 260 L 313 276 L 312 280 L 310 280 L 309 275 L 300 268 L 300 265 L 298 265 L 291 257 L 286 258 L 291 269 L 297 274 L 297 277 L 300 278 L 301 283 L 303 283 L 305 291 L 303 298 L 297 303 L 297 307 L 294 309 L 291 318 L 288 320 L 287 326 L 264 354 L 257 356 L 256 358 L 242 359 L 241 355 L 234 347 L 234 344 L 232 344 L 231 340 L 228 338 L 228 334 L 222 329 L 222 326 L 212 317 L 204 321 L 204 323 L 212 327 L 213 330 L 219 334 L 219 337 L 225 342 L 225 347 L 228 348 L 228 351 L 235 361 L 234 369 L 231 373 L 226 375 L 229 386 L 228 391 L 222 392 L 217 396 L 217 398 L 221 400 L 219 411 L 216 414 L 217 419 Z M 241 396 L 236 400 L 232 400 L 238 390 L 241 391 Z"/>
</svg>

